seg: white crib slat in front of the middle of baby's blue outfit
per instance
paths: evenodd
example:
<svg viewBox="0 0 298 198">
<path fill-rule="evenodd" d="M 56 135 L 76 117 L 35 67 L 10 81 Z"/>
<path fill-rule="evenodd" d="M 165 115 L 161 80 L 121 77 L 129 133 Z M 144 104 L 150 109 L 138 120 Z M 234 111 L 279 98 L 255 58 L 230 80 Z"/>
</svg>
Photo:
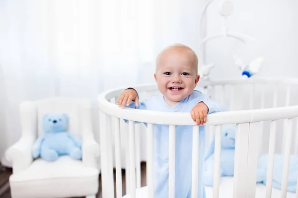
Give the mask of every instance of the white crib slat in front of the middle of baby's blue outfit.
<svg viewBox="0 0 298 198">
<path fill-rule="evenodd" d="M 175 125 L 169 125 L 169 198 L 175 196 Z"/>
</svg>

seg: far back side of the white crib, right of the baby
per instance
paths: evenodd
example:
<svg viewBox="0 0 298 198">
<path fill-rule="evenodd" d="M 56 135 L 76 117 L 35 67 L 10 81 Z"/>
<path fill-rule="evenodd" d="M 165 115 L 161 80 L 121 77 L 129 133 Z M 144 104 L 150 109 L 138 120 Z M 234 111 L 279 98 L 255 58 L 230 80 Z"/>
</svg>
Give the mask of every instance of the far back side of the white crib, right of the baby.
<svg viewBox="0 0 298 198">
<path fill-rule="evenodd" d="M 225 102 L 224 104 L 228 107 L 229 110 L 243 110 L 245 107 L 245 99 L 247 100 L 247 105 L 245 109 L 254 109 L 256 108 L 256 103 L 259 102 L 257 100 L 258 95 L 260 95 L 260 102 L 258 105 L 258 108 L 262 109 L 265 108 L 265 104 L 267 105 L 267 108 L 271 107 L 278 107 L 278 106 L 290 106 L 291 102 L 292 105 L 298 105 L 298 102 L 294 102 L 296 100 L 291 99 L 292 93 L 295 93 L 293 89 L 291 89 L 292 86 L 298 85 L 298 79 L 271 79 L 271 78 L 250 78 L 247 80 L 218 80 L 218 81 L 208 81 L 204 82 L 203 86 L 211 88 L 211 90 L 215 88 L 220 88 L 218 91 L 219 93 L 224 93 L 220 96 L 214 95 L 214 93 L 211 93 L 211 97 L 215 99 L 218 102 Z M 201 85 L 200 85 L 201 86 Z M 237 86 L 241 86 L 241 93 L 237 93 L 235 91 Z M 249 89 L 245 86 L 250 86 Z M 226 87 L 231 87 L 230 92 L 226 92 Z M 258 94 L 257 88 L 261 88 L 261 93 Z M 269 90 L 270 87 L 274 87 L 274 90 L 271 92 Z M 280 94 L 278 88 L 281 88 L 285 91 L 285 93 Z M 245 90 L 245 92 L 243 92 Z M 269 91 L 268 91 L 269 90 Z M 245 96 L 245 93 L 249 93 L 249 96 Z M 237 96 L 236 96 L 236 95 Z M 235 96 L 234 96 L 235 95 Z M 265 97 L 267 95 L 267 100 L 265 101 Z M 271 96 L 271 98 L 268 98 L 268 95 Z M 295 97 L 295 96 L 294 96 Z M 284 100 L 284 102 L 281 102 L 281 100 Z M 228 102 L 227 102 L 228 101 Z M 239 101 L 242 101 L 242 103 L 239 103 Z M 248 105 L 249 104 L 249 105 Z M 272 105 L 271 105 L 272 104 Z M 264 122 L 261 122 L 260 130 L 262 133 L 259 135 L 259 155 L 262 153 L 262 141 L 263 141 L 263 134 L 267 131 L 267 128 L 264 128 Z M 213 131 L 212 128 L 210 129 L 212 132 L 209 134 L 209 137 L 207 137 L 207 142 L 210 142 L 210 139 L 213 137 Z M 281 149 L 280 153 L 284 152 L 285 149 L 285 131 L 287 130 L 286 127 L 286 120 L 283 122 L 283 130 L 281 131 L 282 141 L 281 141 Z M 298 143 L 298 135 L 296 137 L 297 143 Z M 297 145 L 297 144 L 296 144 Z M 298 154 L 298 148 L 295 148 L 295 153 Z"/>
</svg>

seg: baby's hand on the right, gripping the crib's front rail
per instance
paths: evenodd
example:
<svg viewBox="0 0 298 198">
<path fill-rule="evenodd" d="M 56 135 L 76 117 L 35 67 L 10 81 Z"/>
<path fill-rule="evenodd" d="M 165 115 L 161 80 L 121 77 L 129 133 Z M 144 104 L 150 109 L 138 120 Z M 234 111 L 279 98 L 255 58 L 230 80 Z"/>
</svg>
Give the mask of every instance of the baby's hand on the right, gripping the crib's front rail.
<svg viewBox="0 0 298 198">
<path fill-rule="evenodd" d="M 207 121 L 208 106 L 204 102 L 199 102 L 190 112 L 192 119 L 197 125 L 203 125 Z"/>
</svg>

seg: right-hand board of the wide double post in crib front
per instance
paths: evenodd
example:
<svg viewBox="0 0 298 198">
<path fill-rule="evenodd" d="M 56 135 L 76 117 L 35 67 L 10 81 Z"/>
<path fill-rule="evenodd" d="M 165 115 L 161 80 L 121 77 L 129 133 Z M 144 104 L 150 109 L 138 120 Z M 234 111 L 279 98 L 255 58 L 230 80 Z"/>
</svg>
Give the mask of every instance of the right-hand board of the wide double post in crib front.
<svg viewBox="0 0 298 198">
<path fill-rule="evenodd" d="M 249 123 L 248 160 L 246 178 L 246 197 L 254 198 L 256 192 L 257 166 L 258 166 L 258 145 L 260 122 Z"/>
</svg>

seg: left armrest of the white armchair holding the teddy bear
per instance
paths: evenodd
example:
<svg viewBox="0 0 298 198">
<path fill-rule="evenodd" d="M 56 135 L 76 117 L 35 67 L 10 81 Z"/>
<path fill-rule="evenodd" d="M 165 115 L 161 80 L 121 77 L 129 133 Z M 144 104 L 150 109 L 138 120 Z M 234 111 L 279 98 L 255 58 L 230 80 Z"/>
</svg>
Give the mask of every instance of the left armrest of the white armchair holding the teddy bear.
<svg viewBox="0 0 298 198">
<path fill-rule="evenodd" d="M 5 157 L 12 164 L 13 173 L 25 170 L 33 161 L 32 146 L 34 136 L 22 136 L 15 144 L 7 148 Z"/>
</svg>

